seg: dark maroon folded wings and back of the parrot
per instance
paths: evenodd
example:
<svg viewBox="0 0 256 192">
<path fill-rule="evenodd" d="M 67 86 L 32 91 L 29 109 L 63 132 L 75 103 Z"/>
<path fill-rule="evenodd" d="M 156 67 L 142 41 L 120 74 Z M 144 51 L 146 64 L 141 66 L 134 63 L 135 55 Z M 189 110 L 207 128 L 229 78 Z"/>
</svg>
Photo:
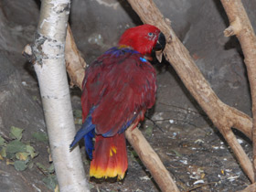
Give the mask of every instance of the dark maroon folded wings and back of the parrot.
<svg viewBox="0 0 256 192">
<path fill-rule="evenodd" d="M 141 54 L 131 50 L 105 54 L 87 70 L 83 115 L 95 107 L 91 117 L 96 133 L 112 136 L 144 118 L 155 103 L 155 91 L 155 69 Z"/>
</svg>

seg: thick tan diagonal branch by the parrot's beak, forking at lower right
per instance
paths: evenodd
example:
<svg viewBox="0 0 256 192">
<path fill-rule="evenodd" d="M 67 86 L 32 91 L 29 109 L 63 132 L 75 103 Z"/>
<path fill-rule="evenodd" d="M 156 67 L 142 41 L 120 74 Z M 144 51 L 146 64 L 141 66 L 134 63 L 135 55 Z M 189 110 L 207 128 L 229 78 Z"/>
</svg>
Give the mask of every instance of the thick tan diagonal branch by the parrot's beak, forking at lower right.
<svg viewBox="0 0 256 192">
<path fill-rule="evenodd" d="M 165 59 L 176 69 L 176 73 L 187 87 L 187 90 L 208 114 L 212 123 L 218 127 L 219 132 L 222 133 L 234 155 L 236 155 L 242 169 L 253 182 L 254 174 L 251 161 L 231 130 L 231 127 L 236 128 L 251 138 L 251 117 L 219 100 L 210 88 L 208 81 L 205 80 L 197 68 L 194 60 L 190 57 L 187 48 L 176 37 L 174 30 L 170 27 L 170 22 L 164 18 L 152 0 L 128 0 L 128 2 L 144 23 L 158 27 L 165 34 L 167 39 L 164 51 Z"/>
</svg>

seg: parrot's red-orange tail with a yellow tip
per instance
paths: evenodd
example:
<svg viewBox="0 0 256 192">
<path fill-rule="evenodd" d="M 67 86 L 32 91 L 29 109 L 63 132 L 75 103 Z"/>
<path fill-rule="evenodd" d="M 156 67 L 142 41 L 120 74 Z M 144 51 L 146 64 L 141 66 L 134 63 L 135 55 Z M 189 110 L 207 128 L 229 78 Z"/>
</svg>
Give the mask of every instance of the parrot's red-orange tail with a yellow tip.
<svg viewBox="0 0 256 192">
<path fill-rule="evenodd" d="M 96 134 L 94 147 L 90 176 L 123 179 L 128 166 L 124 133 L 112 137 Z"/>
</svg>

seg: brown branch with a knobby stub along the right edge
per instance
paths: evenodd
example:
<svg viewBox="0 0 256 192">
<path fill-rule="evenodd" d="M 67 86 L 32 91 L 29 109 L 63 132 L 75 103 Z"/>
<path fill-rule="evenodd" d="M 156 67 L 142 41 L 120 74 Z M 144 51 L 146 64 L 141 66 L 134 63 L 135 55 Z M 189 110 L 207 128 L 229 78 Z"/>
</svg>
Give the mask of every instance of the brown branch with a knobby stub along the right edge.
<svg viewBox="0 0 256 192">
<path fill-rule="evenodd" d="M 236 35 L 244 55 L 252 101 L 252 143 L 254 176 L 256 176 L 256 37 L 251 22 L 240 0 L 221 0 L 229 17 L 230 26 L 224 31 L 225 36 Z"/>
</svg>

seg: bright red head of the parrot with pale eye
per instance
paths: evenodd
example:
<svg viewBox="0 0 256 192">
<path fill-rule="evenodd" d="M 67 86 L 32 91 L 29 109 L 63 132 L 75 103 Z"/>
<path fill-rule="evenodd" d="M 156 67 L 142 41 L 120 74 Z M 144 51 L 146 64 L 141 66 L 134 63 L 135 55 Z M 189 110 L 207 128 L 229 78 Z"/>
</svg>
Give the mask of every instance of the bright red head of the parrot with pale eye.
<svg viewBox="0 0 256 192">
<path fill-rule="evenodd" d="M 119 46 L 131 47 L 145 56 L 152 51 L 161 51 L 165 48 L 165 36 L 155 26 L 142 25 L 124 31 L 119 40 Z"/>
</svg>

